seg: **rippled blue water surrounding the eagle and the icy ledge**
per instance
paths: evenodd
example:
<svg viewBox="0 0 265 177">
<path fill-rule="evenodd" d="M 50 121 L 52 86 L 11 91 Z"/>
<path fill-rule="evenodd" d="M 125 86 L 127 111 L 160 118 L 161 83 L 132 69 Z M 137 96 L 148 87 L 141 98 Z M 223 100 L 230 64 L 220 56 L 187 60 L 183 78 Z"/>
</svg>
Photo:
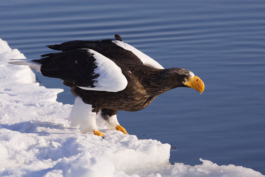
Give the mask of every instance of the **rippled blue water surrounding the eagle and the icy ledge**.
<svg viewBox="0 0 265 177">
<path fill-rule="evenodd" d="M 170 162 L 235 164 L 265 174 L 265 1 L 2 1 L 0 38 L 27 58 L 69 40 L 113 39 L 205 84 L 176 88 L 138 112 L 118 112 L 129 134 L 171 144 Z M 69 88 L 37 74 L 58 101 Z M 145 136 L 143 136 L 145 135 Z"/>
</svg>

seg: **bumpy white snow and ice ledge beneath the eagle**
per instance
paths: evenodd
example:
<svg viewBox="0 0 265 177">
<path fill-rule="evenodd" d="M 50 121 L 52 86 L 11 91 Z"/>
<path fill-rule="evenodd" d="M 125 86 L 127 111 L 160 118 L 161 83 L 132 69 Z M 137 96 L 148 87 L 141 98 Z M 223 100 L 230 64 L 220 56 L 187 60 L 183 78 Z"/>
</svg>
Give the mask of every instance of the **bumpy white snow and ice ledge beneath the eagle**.
<svg viewBox="0 0 265 177">
<path fill-rule="evenodd" d="M 169 163 L 170 145 L 99 129 L 82 134 L 67 120 L 72 105 L 62 89 L 36 83 L 30 68 L 8 59 L 25 56 L 0 39 L 0 176 L 263 176 L 241 166 Z"/>
</svg>

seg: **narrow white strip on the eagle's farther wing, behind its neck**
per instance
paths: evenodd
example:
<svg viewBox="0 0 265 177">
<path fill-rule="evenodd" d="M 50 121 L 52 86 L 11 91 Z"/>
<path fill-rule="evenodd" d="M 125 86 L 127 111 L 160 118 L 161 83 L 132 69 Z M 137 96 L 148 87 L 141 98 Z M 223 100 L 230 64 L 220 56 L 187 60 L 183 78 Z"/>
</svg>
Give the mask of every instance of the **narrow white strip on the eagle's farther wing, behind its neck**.
<svg viewBox="0 0 265 177">
<path fill-rule="evenodd" d="M 165 69 L 159 63 L 157 63 L 154 59 L 152 59 L 148 55 L 145 55 L 143 52 L 137 50 L 133 46 L 131 46 L 131 45 L 125 43 L 125 42 L 122 42 L 120 40 L 112 40 L 112 42 L 114 44 L 116 44 L 117 46 L 120 46 L 120 47 L 122 47 L 122 48 L 124 48 L 126 50 L 129 50 L 129 51 L 133 52 L 134 55 L 136 55 L 144 63 L 144 65 L 150 66 L 152 68 Z"/>
</svg>

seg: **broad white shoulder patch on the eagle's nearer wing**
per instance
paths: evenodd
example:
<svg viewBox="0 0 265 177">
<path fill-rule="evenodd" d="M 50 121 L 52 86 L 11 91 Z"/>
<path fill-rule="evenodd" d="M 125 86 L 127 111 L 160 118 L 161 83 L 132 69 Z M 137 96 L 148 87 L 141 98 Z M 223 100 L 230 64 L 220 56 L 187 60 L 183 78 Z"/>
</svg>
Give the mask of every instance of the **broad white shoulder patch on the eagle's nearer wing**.
<svg viewBox="0 0 265 177">
<path fill-rule="evenodd" d="M 94 88 L 79 88 L 107 92 L 118 92 L 126 88 L 128 81 L 122 74 L 120 67 L 118 67 L 112 60 L 94 50 L 87 49 L 87 52 L 93 54 L 93 57 L 96 59 L 94 63 L 97 68 L 94 70 L 94 75 L 99 74 L 99 76 L 94 79 Z"/>
</svg>

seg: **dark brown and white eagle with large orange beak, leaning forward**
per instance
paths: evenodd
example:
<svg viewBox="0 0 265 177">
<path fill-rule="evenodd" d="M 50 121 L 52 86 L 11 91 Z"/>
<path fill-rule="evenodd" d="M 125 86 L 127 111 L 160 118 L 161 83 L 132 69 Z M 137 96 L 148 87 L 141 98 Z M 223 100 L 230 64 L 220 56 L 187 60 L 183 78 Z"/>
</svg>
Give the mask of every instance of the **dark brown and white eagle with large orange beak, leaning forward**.
<svg viewBox="0 0 265 177">
<path fill-rule="evenodd" d="M 128 134 L 117 120 L 117 111 L 139 111 L 160 94 L 191 87 L 200 93 L 204 83 L 183 68 L 164 69 L 151 57 L 115 39 L 74 40 L 48 45 L 60 52 L 41 59 L 20 59 L 9 63 L 28 65 L 43 76 L 59 78 L 76 96 L 69 121 L 82 133 L 103 137 L 98 125 Z"/>
</svg>

